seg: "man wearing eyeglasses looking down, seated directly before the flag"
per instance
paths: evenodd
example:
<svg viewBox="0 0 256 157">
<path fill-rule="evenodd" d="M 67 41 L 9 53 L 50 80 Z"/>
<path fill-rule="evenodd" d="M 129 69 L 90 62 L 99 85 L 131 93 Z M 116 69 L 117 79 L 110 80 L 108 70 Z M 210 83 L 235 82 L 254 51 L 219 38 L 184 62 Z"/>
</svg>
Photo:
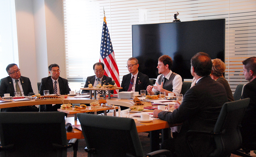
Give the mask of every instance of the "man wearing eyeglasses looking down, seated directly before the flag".
<svg viewBox="0 0 256 157">
<path fill-rule="evenodd" d="M 102 62 L 97 62 L 93 65 L 93 71 L 95 75 L 89 76 L 86 79 L 84 88 L 87 88 L 89 84 L 92 84 L 93 87 L 96 87 L 97 84 L 109 85 L 112 84 L 112 78 L 104 75 L 104 64 Z M 82 90 L 82 93 L 89 93 L 89 90 Z M 113 90 L 111 91 L 111 93 Z"/>
</svg>

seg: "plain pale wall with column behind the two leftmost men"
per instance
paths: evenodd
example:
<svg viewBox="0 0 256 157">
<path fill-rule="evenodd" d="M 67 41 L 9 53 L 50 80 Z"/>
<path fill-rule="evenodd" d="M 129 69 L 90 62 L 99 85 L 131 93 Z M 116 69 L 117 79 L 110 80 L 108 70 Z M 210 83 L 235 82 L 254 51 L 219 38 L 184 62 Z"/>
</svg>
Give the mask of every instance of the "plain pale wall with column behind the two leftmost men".
<svg viewBox="0 0 256 157">
<path fill-rule="evenodd" d="M 15 7 L 21 74 L 37 93 L 50 64 L 58 64 L 66 78 L 62 0 L 15 0 Z"/>
</svg>

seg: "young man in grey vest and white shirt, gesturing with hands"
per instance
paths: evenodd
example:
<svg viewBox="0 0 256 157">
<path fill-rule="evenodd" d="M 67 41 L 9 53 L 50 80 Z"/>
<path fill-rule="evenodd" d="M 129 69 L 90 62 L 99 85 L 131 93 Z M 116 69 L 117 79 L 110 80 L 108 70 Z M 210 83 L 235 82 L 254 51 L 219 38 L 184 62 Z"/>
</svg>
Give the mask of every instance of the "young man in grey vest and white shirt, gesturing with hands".
<svg viewBox="0 0 256 157">
<path fill-rule="evenodd" d="M 151 95 L 157 95 L 159 92 L 180 94 L 182 87 L 182 78 L 180 75 L 171 71 L 172 58 L 168 55 L 162 55 L 158 58 L 158 73 L 155 86 L 149 85 L 147 92 Z"/>
</svg>

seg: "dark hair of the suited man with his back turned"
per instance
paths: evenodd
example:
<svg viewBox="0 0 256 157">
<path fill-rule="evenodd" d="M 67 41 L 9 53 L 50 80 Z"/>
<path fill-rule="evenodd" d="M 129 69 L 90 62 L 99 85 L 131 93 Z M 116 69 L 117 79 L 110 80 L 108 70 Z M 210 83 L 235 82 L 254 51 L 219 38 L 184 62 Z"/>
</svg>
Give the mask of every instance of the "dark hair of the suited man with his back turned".
<svg viewBox="0 0 256 157">
<path fill-rule="evenodd" d="M 191 65 L 198 76 L 208 76 L 212 72 L 212 60 L 207 53 L 198 52 L 191 58 Z"/>
</svg>

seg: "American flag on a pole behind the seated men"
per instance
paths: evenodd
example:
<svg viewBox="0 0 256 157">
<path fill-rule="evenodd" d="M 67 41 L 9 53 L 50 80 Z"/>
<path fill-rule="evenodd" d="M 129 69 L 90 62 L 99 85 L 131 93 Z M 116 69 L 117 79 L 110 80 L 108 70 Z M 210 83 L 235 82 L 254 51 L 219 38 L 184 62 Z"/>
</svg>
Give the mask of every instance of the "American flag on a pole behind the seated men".
<svg viewBox="0 0 256 157">
<path fill-rule="evenodd" d="M 107 27 L 106 17 L 104 17 L 102 36 L 101 36 L 101 46 L 100 46 L 100 62 L 105 66 L 104 75 L 111 77 L 112 80 L 116 82 L 117 87 L 120 87 L 119 71 L 116 64 L 115 54 L 112 47 L 112 43 L 109 36 L 109 31 Z M 114 93 L 118 91 L 115 90 Z"/>
</svg>

